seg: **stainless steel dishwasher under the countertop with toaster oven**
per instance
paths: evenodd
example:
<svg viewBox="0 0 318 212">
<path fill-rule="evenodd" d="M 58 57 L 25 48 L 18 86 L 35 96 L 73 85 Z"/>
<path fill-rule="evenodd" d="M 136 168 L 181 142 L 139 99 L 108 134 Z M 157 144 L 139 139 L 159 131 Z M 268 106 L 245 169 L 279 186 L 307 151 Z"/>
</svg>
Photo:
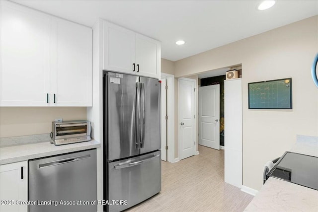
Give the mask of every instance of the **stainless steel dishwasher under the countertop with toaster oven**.
<svg viewBox="0 0 318 212">
<path fill-rule="evenodd" d="M 29 212 L 96 212 L 96 149 L 29 160 Z"/>
</svg>

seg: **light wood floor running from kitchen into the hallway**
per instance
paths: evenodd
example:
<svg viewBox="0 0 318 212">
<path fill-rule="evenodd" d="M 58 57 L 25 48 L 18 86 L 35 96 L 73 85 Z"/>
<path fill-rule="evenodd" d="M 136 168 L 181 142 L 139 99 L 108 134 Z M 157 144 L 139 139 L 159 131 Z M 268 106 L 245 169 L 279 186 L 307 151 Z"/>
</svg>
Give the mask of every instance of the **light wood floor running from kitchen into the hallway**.
<svg viewBox="0 0 318 212">
<path fill-rule="evenodd" d="M 162 161 L 161 192 L 128 212 L 241 212 L 253 196 L 224 182 L 224 150 L 199 145 L 199 155 Z"/>
</svg>

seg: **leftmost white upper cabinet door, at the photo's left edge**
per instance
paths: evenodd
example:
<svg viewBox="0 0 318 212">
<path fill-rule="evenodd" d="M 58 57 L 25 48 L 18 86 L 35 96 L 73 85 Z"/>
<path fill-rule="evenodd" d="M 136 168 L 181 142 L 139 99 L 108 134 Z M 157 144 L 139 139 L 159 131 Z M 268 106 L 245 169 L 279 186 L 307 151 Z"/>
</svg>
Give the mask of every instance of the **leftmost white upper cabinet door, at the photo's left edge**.
<svg viewBox="0 0 318 212">
<path fill-rule="evenodd" d="M 49 106 L 51 16 L 0 1 L 0 106 Z"/>
</svg>

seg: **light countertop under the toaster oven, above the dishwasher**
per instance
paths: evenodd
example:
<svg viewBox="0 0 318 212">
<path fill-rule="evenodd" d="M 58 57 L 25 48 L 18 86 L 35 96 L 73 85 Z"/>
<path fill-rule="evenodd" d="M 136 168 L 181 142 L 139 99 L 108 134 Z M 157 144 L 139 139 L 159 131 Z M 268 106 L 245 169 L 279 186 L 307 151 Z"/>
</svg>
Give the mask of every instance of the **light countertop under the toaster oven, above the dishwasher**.
<svg viewBox="0 0 318 212">
<path fill-rule="evenodd" d="M 49 141 L 0 148 L 0 165 L 100 147 L 98 141 L 56 146 Z"/>
</svg>

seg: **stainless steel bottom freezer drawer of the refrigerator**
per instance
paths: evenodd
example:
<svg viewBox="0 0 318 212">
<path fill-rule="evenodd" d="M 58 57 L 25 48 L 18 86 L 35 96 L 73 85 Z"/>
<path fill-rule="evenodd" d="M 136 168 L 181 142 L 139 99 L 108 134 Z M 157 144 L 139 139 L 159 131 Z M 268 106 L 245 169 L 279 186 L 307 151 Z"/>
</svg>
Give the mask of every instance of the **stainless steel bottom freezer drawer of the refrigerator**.
<svg viewBox="0 0 318 212">
<path fill-rule="evenodd" d="M 161 151 L 108 163 L 107 190 L 110 202 L 126 200 L 128 203 L 109 205 L 109 212 L 123 211 L 159 193 Z"/>
</svg>

